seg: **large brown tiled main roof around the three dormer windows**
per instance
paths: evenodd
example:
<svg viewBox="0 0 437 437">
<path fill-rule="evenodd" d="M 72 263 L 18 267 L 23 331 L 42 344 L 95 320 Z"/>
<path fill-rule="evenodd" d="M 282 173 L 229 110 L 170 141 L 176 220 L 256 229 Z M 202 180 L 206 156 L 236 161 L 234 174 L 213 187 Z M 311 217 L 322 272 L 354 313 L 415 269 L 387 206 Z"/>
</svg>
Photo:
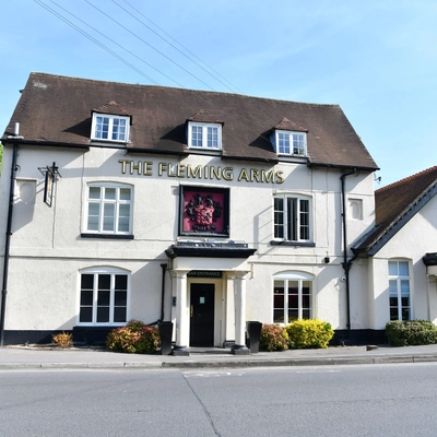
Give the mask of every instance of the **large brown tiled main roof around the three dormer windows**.
<svg viewBox="0 0 437 437">
<path fill-rule="evenodd" d="M 200 120 L 223 125 L 223 158 L 276 163 L 270 137 L 283 126 L 308 132 L 308 165 L 378 169 L 338 105 L 46 73 L 31 73 L 2 143 L 17 141 L 8 137 L 20 122 L 26 144 L 87 147 L 93 110 L 131 117 L 131 152 L 188 154 L 186 122 Z"/>
</svg>

